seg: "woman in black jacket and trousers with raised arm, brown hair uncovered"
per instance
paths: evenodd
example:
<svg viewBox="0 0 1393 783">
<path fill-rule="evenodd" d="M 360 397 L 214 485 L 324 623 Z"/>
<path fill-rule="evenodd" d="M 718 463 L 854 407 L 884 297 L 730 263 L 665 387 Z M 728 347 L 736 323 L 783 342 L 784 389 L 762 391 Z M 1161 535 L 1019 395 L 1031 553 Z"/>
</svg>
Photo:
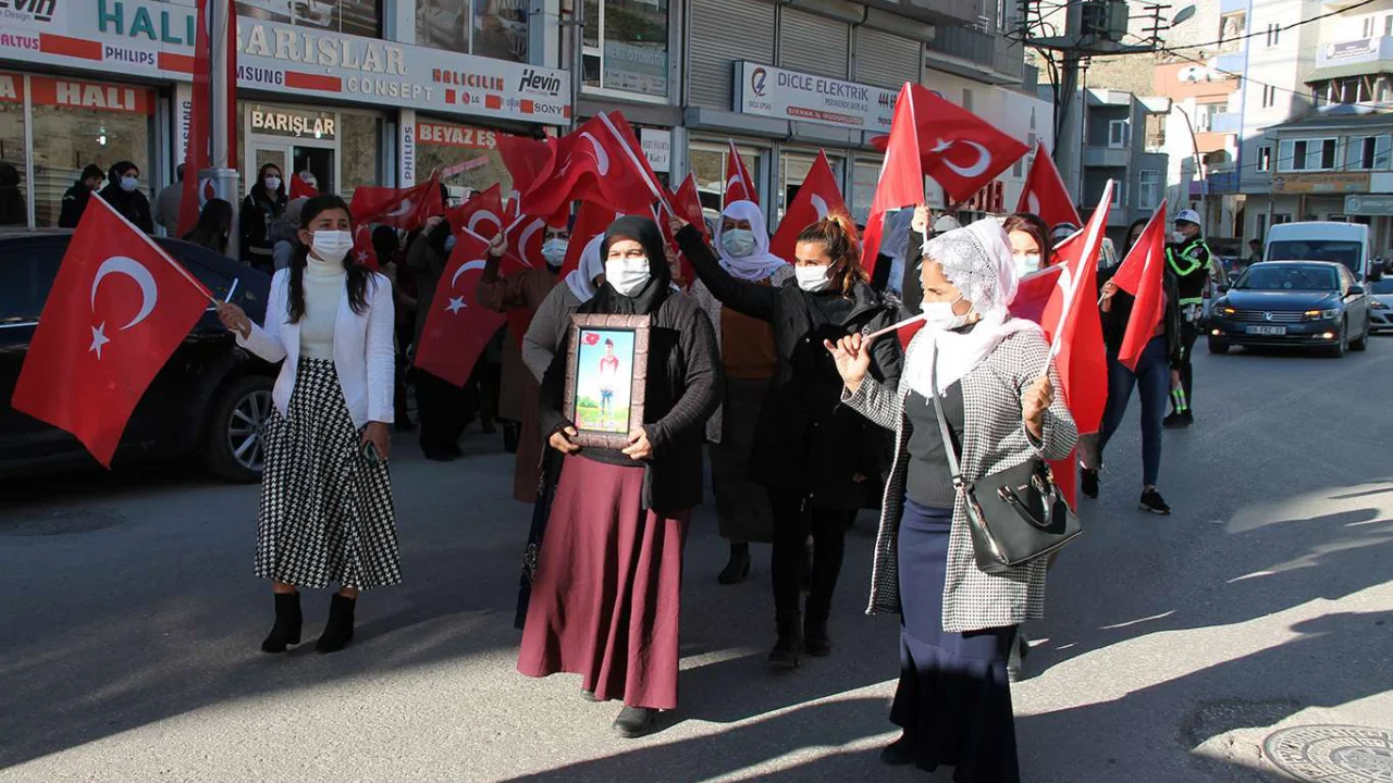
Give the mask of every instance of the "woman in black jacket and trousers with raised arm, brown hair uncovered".
<svg viewBox="0 0 1393 783">
<path fill-rule="evenodd" d="M 775 666 L 794 667 L 798 653 L 832 652 L 827 614 L 841 573 L 846 532 L 875 481 L 885 454 L 883 431 L 840 404 L 841 376 L 822 348 L 894 322 L 868 284 L 851 220 L 832 215 L 798 235 L 795 280 L 756 286 L 730 276 L 701 233 L 678 219 L 673 230 L 712 295 L 726 307 L 768 320 L 779 362 L 765 397 L 749 479 L 769 489 L 773 507 L 773 588 L 779 641 L 769 653 Z M 878 340 L 872 375 L 894 385 L 900 378 L 900 343 Z M 807 616 L 798 610 L 805 541 L 812 534 L 812 591 Z"/>
</svg>

